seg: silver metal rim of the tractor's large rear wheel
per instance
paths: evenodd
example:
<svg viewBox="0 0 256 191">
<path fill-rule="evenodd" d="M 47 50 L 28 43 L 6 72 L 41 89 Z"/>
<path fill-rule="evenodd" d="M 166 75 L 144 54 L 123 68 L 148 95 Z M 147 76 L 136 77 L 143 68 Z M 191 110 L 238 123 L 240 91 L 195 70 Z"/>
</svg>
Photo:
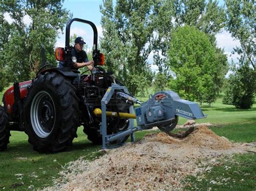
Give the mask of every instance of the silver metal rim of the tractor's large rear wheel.
<svg viewBox="0 0 256 191">
<path fill-rule="evenodd" d="M 32 100 L 30 109 L 31 125 L 38 137 L 46 138 L 55 125 L 55 104 L 51 95 L 46 91 L 39 91 Z"/>
</svg>

